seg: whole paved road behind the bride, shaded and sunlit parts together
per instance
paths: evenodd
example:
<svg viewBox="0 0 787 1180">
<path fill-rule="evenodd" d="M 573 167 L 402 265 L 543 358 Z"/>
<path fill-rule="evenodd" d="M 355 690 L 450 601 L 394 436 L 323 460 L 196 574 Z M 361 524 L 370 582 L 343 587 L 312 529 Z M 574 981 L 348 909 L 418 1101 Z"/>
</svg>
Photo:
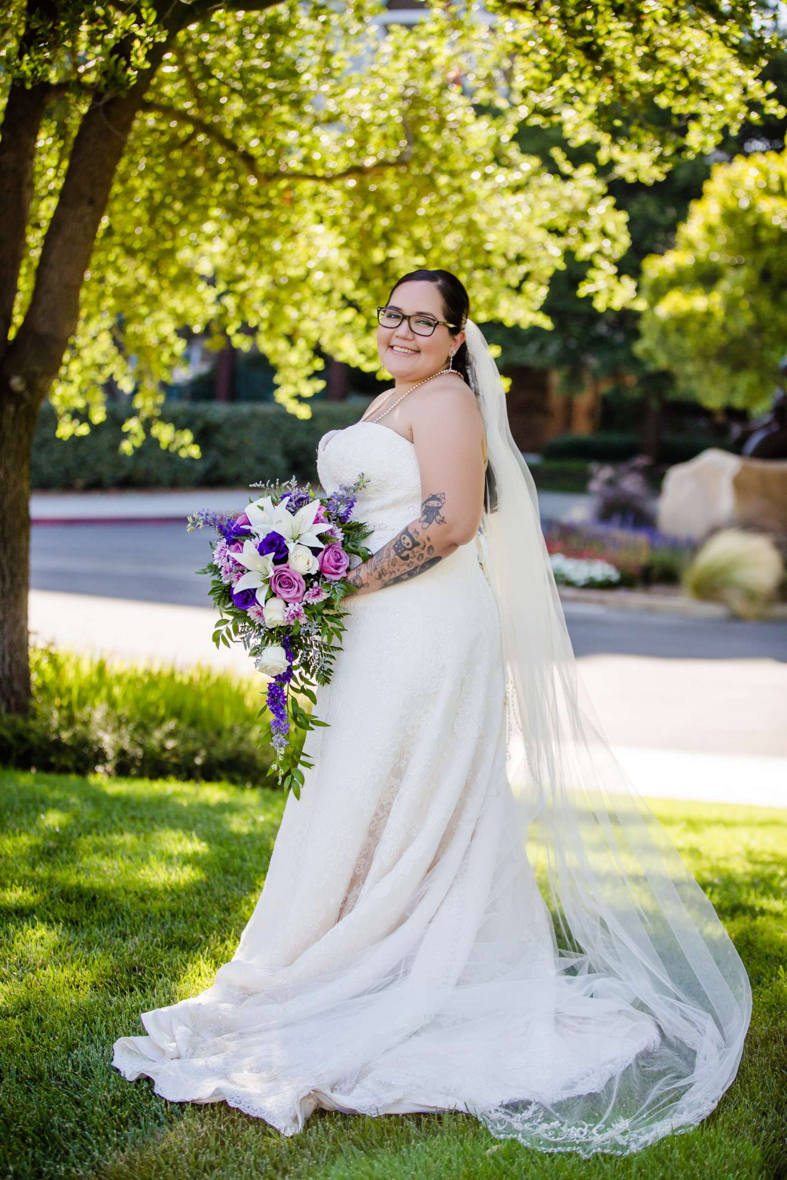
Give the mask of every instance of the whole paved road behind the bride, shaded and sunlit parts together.
<svg viewBox="0 0 787 1180">
<path fill-rule="evenodd" d="M 185 531 L 188 512 L 234 509 L 242 493 L 33 500 L 39 522 L 83 522 L 33 527 L 31 628 L 39 640 L 255 675 L 241 649 L 210 642 L 208 583 L 195 571 L 209 558 L 214 535 Z M 552 493 L 540 506 L 543 516 L 563 518 L 586 509 L 583 497 Z M 151 516 L 165 519 L 150 523 Z M 124 519 L 100 523 L 106 518 Z M 591 708 L 642 794 L 787 805 L 787 623 L 576 602 L 565 615 Z"/>
</svg>

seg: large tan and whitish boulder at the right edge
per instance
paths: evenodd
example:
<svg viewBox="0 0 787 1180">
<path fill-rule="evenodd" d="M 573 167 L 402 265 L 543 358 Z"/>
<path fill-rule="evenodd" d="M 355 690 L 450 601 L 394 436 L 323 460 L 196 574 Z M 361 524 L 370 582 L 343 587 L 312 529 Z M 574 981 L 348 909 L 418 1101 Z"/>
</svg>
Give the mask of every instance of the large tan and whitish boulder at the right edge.
<svg viewBox="0 0 787 1180">
<path fill-rule="evenodd" d="M 662 532 L 690 540 L 730 525 L 787 536 L 787 460 L 709 447 L 669 468 L 656 523 Z"/>
</svg>

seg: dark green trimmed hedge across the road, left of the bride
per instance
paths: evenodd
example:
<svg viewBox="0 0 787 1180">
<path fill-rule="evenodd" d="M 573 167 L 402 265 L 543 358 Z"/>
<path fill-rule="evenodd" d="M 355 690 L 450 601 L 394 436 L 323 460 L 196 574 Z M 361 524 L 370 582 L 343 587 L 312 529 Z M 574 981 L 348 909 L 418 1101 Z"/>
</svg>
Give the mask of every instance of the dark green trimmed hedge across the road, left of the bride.
<svg viewBox="0 0 787 1180">
<path fill-rule="evenodd" d="M 191 430 L 202 448 L 201 459 L 182 459 L 150 437 L 132 455 L 120 454 L 127 411 L 113 404 L 90 434 L 59 439 L 57 415 L 45 402 L 33 442 L 32 486 L 41 491 L 232 487 L 290 476 L 316 483 L 321 435 L 349 426 L 367 405 L 366 398 L 314 402 L 311 418 L 303 420 L 270 402 L 166 402 L 163 418 L 178 430 Z"/>
</svg>

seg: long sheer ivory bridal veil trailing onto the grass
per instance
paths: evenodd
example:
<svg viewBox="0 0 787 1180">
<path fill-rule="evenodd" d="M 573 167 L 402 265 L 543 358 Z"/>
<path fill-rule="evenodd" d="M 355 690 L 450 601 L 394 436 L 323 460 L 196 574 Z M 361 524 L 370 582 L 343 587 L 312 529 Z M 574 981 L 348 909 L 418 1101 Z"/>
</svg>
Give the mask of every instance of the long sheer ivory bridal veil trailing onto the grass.
<svg viewBox="0 0 787 1180">
<path fill-rule="evenodd" d="M 585 995 L 655 1021 L 657 1044 L 602 1090 L 480 1114 L 546 1150 L 627 1154 L 688 1130 L 733 1081 L 752 991 L 713 905 L 617 762 L 588 701 L 505 392 L 467 320 L 471 385 L 492 470 L 479 535 L 503 627 L 507 778 L 556 926 L 558 962 Z M 523 989 L 523 1007 L 527 995 Z"/>
</svg>

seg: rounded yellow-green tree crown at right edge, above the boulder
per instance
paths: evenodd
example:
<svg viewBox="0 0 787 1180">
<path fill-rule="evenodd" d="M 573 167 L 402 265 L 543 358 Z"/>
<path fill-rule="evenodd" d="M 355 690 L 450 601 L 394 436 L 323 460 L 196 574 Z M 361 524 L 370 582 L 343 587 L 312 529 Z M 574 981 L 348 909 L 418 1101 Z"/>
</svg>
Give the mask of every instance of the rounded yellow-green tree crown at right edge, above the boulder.
<svg viewBox="0 0 787 1180">
<path fill-rule="evenodd" d="M 716 164 L 675 247 L 643 263 L 636 350 L 709 407 L 766 409 L 787 352 L 787 152 Z"/>
</svg>

